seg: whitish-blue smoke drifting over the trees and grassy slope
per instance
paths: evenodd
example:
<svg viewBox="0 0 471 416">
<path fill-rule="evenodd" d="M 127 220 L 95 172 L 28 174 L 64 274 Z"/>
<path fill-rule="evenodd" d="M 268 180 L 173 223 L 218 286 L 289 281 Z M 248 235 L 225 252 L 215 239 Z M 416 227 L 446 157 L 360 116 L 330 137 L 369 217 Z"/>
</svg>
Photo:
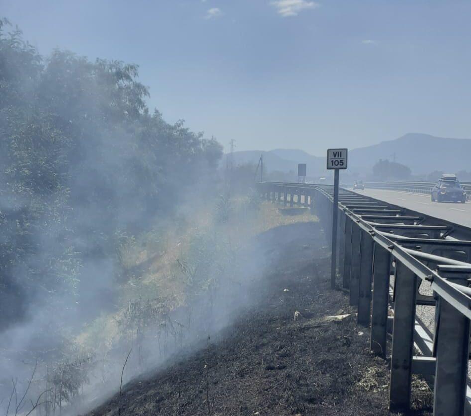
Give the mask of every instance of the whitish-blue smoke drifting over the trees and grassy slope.
<svg viewBox="0 0 471 416">
<path fill-rule="evenodd" d="M 27 392 L 28 406 L 43 395 L 38 414 L 74 414 L 119 388 L 131 349 L 125 380 L 198 348 L 256 300 L 256 198 L 229 197 L 214 138 L 149 111 L 136 65 L 44 58 L 7 26 L 0 409 L 27 412 L 12 404 Z"/>
</svg>

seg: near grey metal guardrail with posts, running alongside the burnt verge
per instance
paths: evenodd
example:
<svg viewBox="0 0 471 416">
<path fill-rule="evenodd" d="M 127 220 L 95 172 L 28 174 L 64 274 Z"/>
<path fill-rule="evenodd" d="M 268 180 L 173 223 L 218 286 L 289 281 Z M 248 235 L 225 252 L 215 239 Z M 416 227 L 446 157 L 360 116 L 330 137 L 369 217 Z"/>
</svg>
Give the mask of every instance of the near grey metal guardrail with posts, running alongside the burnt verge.
<svg viewBox="0 0 471 416">
<path fill-rule="evenodd" d="M 257 183 L 257 189 L 268 200 L 310 206 L 331 228 L 332 185 Z M 371 326 L 371 351 L 382 357 L 393 319 L 390 409 L 410 408 L 412 373 L 419 373 L 434 377 L 434 415 L 469 414 L 471 229 L 345 189 L 338 215 L 337 277 L 358 307 L 358 323 Z M 419 293 L 423 282 L 433 296 Z M 435 307 L 433 334 L 420 325 L 417 305 Z"/>
</svg>

